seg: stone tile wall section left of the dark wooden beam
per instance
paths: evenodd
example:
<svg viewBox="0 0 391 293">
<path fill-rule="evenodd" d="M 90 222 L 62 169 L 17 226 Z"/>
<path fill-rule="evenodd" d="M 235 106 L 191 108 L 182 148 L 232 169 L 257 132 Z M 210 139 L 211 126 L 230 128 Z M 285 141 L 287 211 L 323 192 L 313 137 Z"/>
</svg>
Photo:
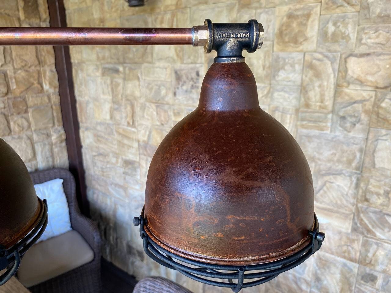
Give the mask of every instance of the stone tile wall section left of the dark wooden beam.
<svg viewBox="0 0 391 293">
<path fill-rule="evenodd" d="M 46 0 L 0 1 L 0 27 L 48 27 Z M 0 137 L 29 171 L 68 168 L 51 46 L 0 46 Z"/>
</svg>

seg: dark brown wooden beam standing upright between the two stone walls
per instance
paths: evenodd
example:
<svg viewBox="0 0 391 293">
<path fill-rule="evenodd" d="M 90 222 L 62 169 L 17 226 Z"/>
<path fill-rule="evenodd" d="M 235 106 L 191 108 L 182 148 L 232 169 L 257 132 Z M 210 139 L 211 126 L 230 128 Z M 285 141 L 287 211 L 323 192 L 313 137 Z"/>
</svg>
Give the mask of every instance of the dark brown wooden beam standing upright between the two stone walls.
<svg viewBox="0 0 391 293">
<path fill-rule="evenodd" d="M 67 27 L 66 14 L 63 0 L 48 0 L 50 27 Z M 81 212 L 90 215 L 86 181 L 84 177 L 83 157 L 79 134 L 79 120 L 74 82 L 72 77 L 72 62 L 69 54 L 69 46 L 54 46 L 56 58 L 56 70 L 58 75 L 61 114 L 63 127 L 66 134 L 66 148 L 68 151 L 69 171 L 76 180 L 76 195 Z"/>
</svg>

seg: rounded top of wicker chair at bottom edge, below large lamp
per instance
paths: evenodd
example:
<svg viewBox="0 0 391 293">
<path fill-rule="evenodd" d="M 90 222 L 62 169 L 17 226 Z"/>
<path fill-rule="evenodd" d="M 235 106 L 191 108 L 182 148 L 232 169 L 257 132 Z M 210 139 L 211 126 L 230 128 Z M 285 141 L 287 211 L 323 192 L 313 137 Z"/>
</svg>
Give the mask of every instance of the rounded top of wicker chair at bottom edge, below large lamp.
<svg viewBox="0 0 391 293">
<path fill-rule="evenodd" d="M 162 277 L 146 277 L 138 282 L 133 293 L 193 293 Z"/>
</svg>

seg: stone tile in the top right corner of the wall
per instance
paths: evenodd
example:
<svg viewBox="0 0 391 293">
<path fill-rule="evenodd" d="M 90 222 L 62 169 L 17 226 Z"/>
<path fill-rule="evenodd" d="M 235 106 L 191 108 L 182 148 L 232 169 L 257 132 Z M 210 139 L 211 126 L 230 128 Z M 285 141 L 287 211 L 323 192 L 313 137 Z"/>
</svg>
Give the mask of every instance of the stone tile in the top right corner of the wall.
<svg viewBox="0 0 391 293">
<path fill-rule="evenodd" d="M 361 23 L 390 23 L 391 6 L 388 0 L 362 0 L 360 9 Z"/>
</svg>

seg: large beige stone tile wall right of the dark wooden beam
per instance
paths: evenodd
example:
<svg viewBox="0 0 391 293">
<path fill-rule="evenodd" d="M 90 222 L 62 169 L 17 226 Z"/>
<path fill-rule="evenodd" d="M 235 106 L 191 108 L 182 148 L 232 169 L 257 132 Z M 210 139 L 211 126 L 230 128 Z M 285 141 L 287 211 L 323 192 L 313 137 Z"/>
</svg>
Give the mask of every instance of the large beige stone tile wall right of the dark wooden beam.
<svg viewBox="0 0 391 293">
<path fill-rule="evenodd" d="M 122 0 L 65 3 L 72 27 L 261 21 L 265 43 L 246 54 L 247 63 L 262 108 L 296 137 L 310 162 L 327 236 L 300 267 L 244 292 L 391 292 L 389 0 L 147 0 L 138 8 Z M 191 46 L 84 46 L 71 54 L 88 198 L 104 257 L 138 278 L 162 275 L 195 293 L 231 292 L 151 261 L 132 225 L 152 155 L 197 106 L 213 54 Z"/>
</svg>

